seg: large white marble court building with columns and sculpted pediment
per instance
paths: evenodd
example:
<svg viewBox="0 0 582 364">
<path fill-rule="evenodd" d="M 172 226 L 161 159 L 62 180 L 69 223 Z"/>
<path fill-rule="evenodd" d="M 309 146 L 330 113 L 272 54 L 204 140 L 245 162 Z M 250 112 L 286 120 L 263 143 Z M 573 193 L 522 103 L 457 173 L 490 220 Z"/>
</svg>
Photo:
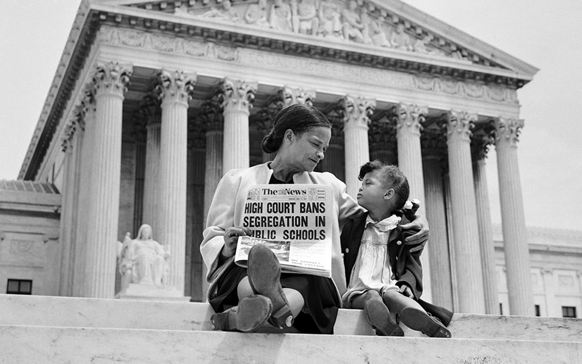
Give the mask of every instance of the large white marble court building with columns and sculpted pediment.
<svg viewBox="0 0 582 364">
<path fill-rule="evenodd" d="M 495 148 L 504 299 L 533 315 L 516 90 L 536 72 L 399 0 L 84 0 L 19 176 L 62 196 L 55 290 L 113 298 L 116 242 L 148 223 L 168 284 L 203 300 L 219 179 L 272 158 L 272 116 L 309 103 L 334 126 L 316 170 L 353 196 L 370 159 L 406 174 L 431 227 L 423 297 L 456 312 L 499 313 Z"/>
</svg>

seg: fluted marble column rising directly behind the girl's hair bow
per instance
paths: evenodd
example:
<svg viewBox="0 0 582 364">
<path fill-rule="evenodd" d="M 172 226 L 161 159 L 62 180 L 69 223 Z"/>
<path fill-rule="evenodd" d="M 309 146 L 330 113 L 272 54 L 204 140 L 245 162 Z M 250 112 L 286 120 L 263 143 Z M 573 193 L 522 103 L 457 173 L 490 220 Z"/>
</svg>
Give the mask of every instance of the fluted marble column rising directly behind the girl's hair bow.
<svg viewBox="0 0 582 364">
<path fill-rule="evenodd" d="M 421 123 L 428 107 L 399 104 L 395 108 L 396 140 L 398 144 L 398 167 L 406 176 L 410 186 L 410 199 L 421 201 L 418 214 L 426 216 L 423 176 L 423 156 L 420 149 Z M 420 257 L 423 264 L 423 298 L 432 302 L 432 280 L 430 267 L 430 244 L 425 245 Z"/>
</svg>

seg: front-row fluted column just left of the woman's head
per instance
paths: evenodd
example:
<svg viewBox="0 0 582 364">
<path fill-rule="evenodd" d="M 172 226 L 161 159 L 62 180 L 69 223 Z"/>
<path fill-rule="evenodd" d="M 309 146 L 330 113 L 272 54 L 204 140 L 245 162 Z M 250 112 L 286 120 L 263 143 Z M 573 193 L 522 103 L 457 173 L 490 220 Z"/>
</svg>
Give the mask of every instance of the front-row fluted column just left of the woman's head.
<svg viewBox="0 0 582 364">
<path fill-rule="evenodd" d="M 249 167 L 249 109 L 256 82 L 232 80 L 222 81 L 222 109 L 224 113 L 224 143 L 222 148 L 222 172 Z"/>
</svg>

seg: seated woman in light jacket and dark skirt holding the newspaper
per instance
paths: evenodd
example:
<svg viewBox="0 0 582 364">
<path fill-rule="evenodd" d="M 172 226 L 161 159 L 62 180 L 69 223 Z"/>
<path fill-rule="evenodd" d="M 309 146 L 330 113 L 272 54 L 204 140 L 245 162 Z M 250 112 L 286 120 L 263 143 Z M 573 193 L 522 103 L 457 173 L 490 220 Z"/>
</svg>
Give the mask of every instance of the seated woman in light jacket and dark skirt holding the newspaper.
<svg viewBox="0 0 582 364">
<path fill-rule="evenodd" d="M 222 177 L 210 206 L 207 229 L 200 245 L 208 280 L 212 281 L 208 299 L 215 312 L 215 329 L 255 331 L 265 322 L 275 327 L 294 326 L 304 333 L 333 332 L 333 324 L 346 290 L 346 276 L 340 247 L 340 229 L 350 216 L 364 212 L 346 185 L 331 173 L 313 172 L 331 138 L 331 123 L 313 106 L 292 105 L 275 116 L 272 130 L 261 148 L 276 152 L 272 162 L 247 169 L 230 170 Z M 332 187 L 332 278 L 309 274 L 281 274 L 279 263 L 268 248 L 255 245 L 249 254 L 249 269 L 233 263 L 237 238 L 249 233 L 242 227 L 241 215 L 247 190 L 256 184 L 301 183 Z M 419 221 L 420 220 L 420 221 Z M 415 227 L 420 233 L 407 244 L 428 238 L 428 223 L 416 219 L 404 229 Z"/>
</svg>

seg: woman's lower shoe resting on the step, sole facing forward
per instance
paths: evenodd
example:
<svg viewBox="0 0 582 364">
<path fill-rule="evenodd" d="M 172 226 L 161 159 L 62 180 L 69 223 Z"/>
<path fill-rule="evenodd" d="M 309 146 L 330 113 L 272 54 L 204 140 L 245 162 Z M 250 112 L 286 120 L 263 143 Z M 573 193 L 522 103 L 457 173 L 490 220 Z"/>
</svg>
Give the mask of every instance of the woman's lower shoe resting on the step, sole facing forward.
<svg viewBox="0 0 582 364">
<path fill-rule="evenodd" d="M 243 297 L 238 306 L 212 315 L 210 323 L 213 330 L 252 333 L 271 317 L 272 311 L 270 299 L 261 295 L 251 295 Z"/>
</svg>

